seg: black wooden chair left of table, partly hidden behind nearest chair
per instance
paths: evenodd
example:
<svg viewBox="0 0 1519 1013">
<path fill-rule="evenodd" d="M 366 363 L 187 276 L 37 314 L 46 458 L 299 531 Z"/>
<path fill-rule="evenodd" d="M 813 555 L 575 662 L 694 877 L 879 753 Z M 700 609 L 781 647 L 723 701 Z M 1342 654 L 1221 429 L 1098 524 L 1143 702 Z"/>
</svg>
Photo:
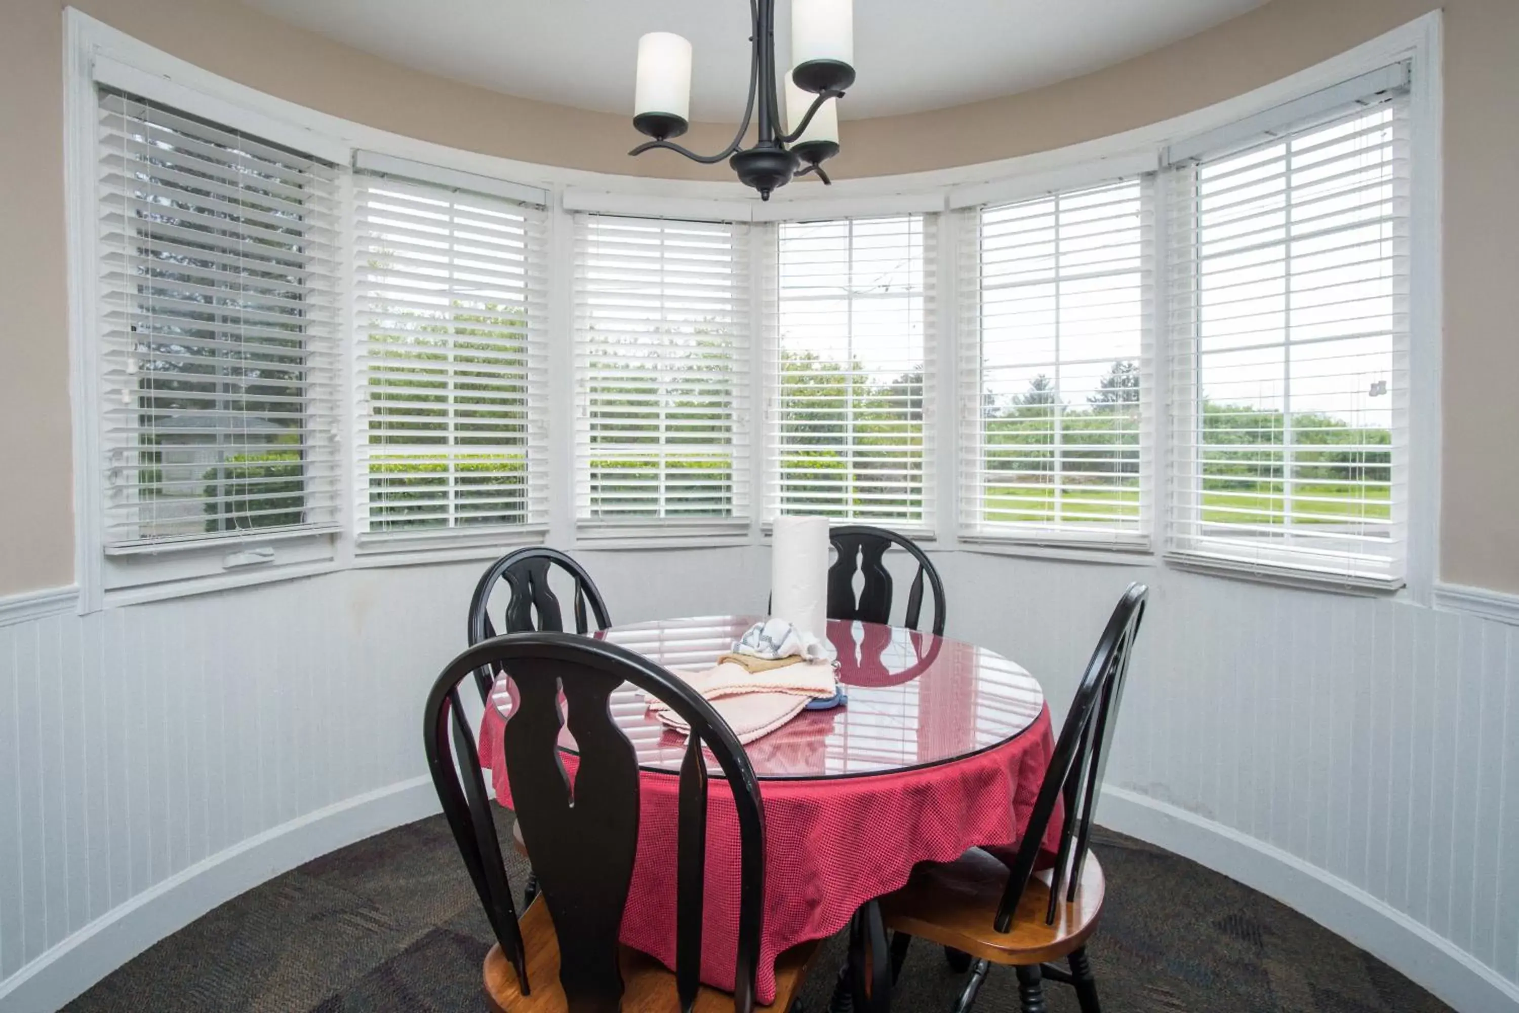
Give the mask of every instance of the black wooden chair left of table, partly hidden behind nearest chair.
<svg viewBox="0 0 1519 1013">
<path fill-rule="evenodd" d="M 564 630 L 564 612 L 559 607 L 559 595 L 548 586 L 548 574 L 557 566 L 570 574 L 574 582 L 574 627 L 582 636 L 589 632 L 586 609 L 595 617 L 595 629 L 605 630 L 612 624 L 608 615 L 602 592 L 595 582 L 573 556 L 547 545 L 518 548 L 497 559 L 480 576 L 474 597 L 469 600 L 469 644 L 491 639 L 497 635 L 495 623 L 491 621 L 491 594 L 497 582 L 504 582 L 510 591 L 506 609 L 503 611 L 501 633 L 529 633 L 533 630 Z M 500 670 L 480 670 L 475 673 L 475 685 L 480 690 L 480 700 L 489 703 L 491 683 L 500 676 Z M 516 850 L 527 857 L 527 846 L 513 828 L 513 844 Z M 523 884 L 523 904 L 530 904 L 538 895 L 538 876 L 529 873 Z"/>
</svg>

